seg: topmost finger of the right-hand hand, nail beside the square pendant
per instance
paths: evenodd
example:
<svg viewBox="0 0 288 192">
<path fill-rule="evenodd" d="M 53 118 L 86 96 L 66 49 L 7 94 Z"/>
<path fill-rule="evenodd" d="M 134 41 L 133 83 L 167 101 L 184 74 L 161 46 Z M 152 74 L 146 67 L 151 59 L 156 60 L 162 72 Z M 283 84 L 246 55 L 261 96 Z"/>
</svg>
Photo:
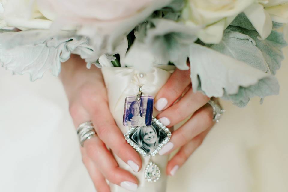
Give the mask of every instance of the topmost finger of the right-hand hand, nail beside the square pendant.
<svg viewBox="0 0 288 192">
<path fill-rule="evenodd" d="M 167 109 L 179 98 L 185 88 L 191 83 L 190 70 L 176 69 L 166 84 L 155 97 L 155 108 L 158 111 Z"/>
</svg>

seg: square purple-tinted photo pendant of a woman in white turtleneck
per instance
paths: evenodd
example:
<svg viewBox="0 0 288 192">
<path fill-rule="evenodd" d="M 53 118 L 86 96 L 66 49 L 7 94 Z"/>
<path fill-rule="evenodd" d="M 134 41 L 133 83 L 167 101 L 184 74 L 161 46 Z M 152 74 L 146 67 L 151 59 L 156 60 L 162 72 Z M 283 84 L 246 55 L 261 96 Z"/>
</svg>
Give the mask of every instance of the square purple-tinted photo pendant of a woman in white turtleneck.
<svg viewBox="0 0 288 192">
<path fill-rule="evenodd" d="M 125 99 L 123 125 L 147 126 L 152 123 L 154 98 L 150 95 L 141 96 L 139 101 L 135 96 Z"/>
</svg>

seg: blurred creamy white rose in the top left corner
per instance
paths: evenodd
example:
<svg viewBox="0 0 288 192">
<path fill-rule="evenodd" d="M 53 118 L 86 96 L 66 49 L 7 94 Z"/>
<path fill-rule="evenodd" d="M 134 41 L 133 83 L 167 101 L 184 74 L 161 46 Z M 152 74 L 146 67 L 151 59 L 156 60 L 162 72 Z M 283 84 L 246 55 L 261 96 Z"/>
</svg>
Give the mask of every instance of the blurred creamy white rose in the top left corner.
<svg viewBox="0 0 288 192">
<path fill-rule="evenodd" d="M 49 29 L 52 21 L 44 18 L 35 0 L 2 0 L 0 27 L 25 29 Z"/>
</svg>

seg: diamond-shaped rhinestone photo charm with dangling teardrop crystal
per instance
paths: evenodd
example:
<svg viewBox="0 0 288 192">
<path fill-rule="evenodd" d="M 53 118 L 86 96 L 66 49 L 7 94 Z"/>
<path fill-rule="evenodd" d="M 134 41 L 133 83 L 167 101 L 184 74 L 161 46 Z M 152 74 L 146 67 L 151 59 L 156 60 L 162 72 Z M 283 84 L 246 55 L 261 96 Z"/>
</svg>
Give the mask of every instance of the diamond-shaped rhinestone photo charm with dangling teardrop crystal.
<svg viewBox="0 0 288 192">
<path fill-rule="evenodd" d="M 169 128 L 155 117 L 152 117 L 151 125 L 132 126 L 124 136 L 137 152 L 144 157 L 148 156 L 151 158 L 168 143 L 171 135 Z M 157 182 L 161 176 L 159 167 L 152 161 L 149 161 L 144 174 L 148 182 Z"/>
</svg>

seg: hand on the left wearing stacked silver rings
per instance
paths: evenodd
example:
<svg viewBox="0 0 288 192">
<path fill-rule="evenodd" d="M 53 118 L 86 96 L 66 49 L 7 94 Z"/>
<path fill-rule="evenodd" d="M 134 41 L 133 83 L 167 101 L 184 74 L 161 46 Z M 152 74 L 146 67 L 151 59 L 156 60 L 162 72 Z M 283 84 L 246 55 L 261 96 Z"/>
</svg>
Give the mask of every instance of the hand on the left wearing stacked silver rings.
<svg viewBox="0 0 288 192">
<path fill-rule="evenodd" d="M 141 169 L 141 158 L 126 142 L 108 107 L 107 90 L 101 70 L 95 66 L 86 68 L 85 61 L 77 55 L 62 64 L 60 79 L 63 82 L 69 110 L 75 127 L 91 120 L 97 136 L 81 147 L 82 161 L 97 191 L 110 191 L 106 180 L 136 190 L 138 180 L 130 172 L 119 168 L 109 147 L 134 171 Z M 107 146 L 107 147 L 106 147 Z"/>
</svg>

